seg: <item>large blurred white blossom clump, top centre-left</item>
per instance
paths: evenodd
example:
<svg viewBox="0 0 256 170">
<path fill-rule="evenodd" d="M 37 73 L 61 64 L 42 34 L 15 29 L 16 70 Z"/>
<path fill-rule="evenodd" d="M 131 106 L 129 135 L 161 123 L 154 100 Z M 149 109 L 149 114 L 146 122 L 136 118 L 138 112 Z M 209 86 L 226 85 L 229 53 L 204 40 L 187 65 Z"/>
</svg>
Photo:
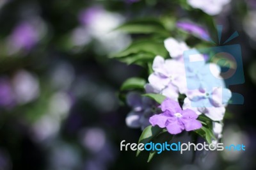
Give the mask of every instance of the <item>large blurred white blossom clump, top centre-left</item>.
<svg viewBox="0 0 256 170">
<path fill-rule="evenodd" d="M 109 54 L 124 49 L 131 42 L 131 37 L 127 34 L 113 31 L 125 20 L 118 13 L 108 12 L 100 6 L 93 6 L 83 10 L 79 20 L 81 26 L 74 29 L 70 37 L 73 45 L 83 46 L 91 40 L 97 40 L 95 51 L 99 54 L 105 54 L 105 52 Z"/>
</svg>

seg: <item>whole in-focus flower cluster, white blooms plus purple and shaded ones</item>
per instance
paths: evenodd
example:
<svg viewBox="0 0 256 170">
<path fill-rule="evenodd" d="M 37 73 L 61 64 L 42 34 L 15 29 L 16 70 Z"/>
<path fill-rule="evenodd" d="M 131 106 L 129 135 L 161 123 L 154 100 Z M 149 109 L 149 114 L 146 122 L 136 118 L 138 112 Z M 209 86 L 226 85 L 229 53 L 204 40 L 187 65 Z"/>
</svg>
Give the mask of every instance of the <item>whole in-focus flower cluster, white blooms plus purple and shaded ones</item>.
<svg viewBox="0 0 256 170">
<path fill-rule="evenodd" d="M 231 92 L 225 88 L 225 82 L 220 75 L 220 66 L 209 63 L 208 56 L 200 54 L 185 42 L 174 38 L 166 39 L 164 46 L 172 58 L 164 59 L 156 56 L 152 64 L 154 72 L 149 75 L 148 83 L 145 84 L 147 93 L 157 93 L 168 98 L 161 105 L 162 113 L 154 116 L 152 112 L 151 115 L 147 114 L 152 105 L 141 107 L 142 100 L 134 97 L 138 94 L 130 93 L 127 102 L 133 107 L 133 111 L 127 116 L 127 125 L 141 127 L 141 116 L 143 122 L 147 123 L 147 118 L 152 116 L 149 119 L 151 125 L 166 127 L 170 134 L 178 134 L 184 129 L 189 131 L 200 128 L 201 123 L 195 120 L 200 114 L 205 114 L 212 121 L 223 120 Z M 184 56 L 185 51 L 192 51 L 196 54 L 194 56 L 196 60 L 200 62 L 192 62 L 192 65 L 188 65 L 188 58 Z M 180 95 L 186 96 L 182 102 L 183 111 L 178 103 Z"/>
</svg>

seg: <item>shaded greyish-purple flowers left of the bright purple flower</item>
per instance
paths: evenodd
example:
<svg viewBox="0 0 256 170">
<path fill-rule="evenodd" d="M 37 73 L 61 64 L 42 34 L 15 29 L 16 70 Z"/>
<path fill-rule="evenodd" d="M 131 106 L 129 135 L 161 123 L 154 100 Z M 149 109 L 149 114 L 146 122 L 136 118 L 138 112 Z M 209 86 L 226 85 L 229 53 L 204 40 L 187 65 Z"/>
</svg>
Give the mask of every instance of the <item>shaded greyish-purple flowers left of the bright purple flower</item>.
<svg viewBox="0 0 256 170">
<path fill-rule="evenodd" d="M 140 93 L 130 92 L 127 95 L 127 104 L 132 111 L 127 115 L 125 122 L 128 127 L 144 129 L 150 125 L 148 119 L 154 115 L 152 109 L 156 103 L 148 97 L 141 97 Z"/>
</svg>

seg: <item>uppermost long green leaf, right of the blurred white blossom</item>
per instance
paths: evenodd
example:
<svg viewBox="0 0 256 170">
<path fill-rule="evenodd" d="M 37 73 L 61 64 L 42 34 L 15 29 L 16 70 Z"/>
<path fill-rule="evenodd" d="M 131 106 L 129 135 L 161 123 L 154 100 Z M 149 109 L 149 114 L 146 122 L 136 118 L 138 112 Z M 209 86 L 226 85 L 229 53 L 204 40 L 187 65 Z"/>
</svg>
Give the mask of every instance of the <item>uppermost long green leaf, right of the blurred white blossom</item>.
<svg viewBox="0 0 256 170">
<path fill-rule="evenodd" d="M 159 33 L 166 36 L 169 35 L 168 31 L 164 28 L 163 24 L 161 24 L 159 20 L 154 19 L 129 21 L 123 24 L 122 26 L 117 27 L 116 30 L 134 34 Z"/>
</svg>

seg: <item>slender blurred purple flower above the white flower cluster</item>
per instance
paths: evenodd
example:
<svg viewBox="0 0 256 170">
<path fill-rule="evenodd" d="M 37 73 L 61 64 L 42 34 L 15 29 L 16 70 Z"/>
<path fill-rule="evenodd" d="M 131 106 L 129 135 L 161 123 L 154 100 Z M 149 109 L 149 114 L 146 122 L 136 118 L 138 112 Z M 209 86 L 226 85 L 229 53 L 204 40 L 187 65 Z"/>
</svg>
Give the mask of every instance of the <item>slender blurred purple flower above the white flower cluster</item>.
<svg viewBox="0 0 256 170">
<path fill-rule="evenodd" d="M 188 33 L 191 33 L 192 35 L 198 36 L 199 38 L 202 38 L 203 40 L 206 40 L 206 41 L 210 40 L 208 31 L 196 24 L 184 21 L 184 22 L 177 22 L 176 26 L 182 29 L 183 31 L 186 31 Z"/>
</svg>

